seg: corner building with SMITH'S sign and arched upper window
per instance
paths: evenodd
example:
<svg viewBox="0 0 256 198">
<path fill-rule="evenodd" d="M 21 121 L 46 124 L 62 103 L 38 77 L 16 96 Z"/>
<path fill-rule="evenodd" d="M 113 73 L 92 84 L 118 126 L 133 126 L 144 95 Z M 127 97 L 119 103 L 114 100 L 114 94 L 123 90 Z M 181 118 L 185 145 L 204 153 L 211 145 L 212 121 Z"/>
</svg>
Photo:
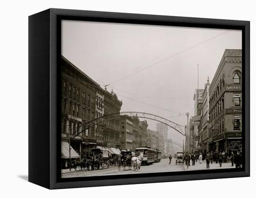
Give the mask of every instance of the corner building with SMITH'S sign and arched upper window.
<svg viewBox="0 0 256 198">
<path fill-rule="evenodd" d="M 242 148 L 242 50 L 226 49 L 209 86 L 209 150 Z"/>
</svg>

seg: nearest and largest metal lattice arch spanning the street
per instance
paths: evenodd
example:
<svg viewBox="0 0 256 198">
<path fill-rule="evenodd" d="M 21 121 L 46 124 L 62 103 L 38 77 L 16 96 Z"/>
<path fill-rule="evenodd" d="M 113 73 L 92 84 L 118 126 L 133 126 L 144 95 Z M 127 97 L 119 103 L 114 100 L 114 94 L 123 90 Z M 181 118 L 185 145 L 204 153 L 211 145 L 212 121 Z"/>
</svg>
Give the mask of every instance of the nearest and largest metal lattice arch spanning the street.
<svg viewBox="0 0 256 198">
<path fill-rule="evenodd" d="M 106 121 L 109 120 L 113 120 L 113 119 L 121 119 L 121 118 L 128 118 L 128 117 L 137 117 L 137 118 L 144 118 L 144 119 L 151 119 L 151 120 L 155 120 L 157 122 L 161 122 L 165 125 L 168 125 L 169 127 L 173 128 L 175 131 L 181 133 L 183 136 L 185 136 L 182 128 L 185 128 L 185 126 L 179 125 L 175 122 L 172 122 L 168 119 L 162 118 L 160 116 L 151 114 L 151 113 L 146 113 L 146 112 L 117 112 L 117 113 L 111 113 L 108 115 L 104 115 L 101 116 L 100 118 L 97 119 L 93 119 L 90 120 L 86 123 L 84 123 L 84 125 L 89 125 L 88 128 L 94 126 L 94 125 L 99 125 L 101 123 L 104 123 Z M 88 128 L 84 129 L 83 131 L 87 130 Z M 83 132 L 81 131 L 81 132 Z M 74 137 L 76 137 L 77 135 L 79 135 L 81 132 L 77 133 L 76 135 L 74 135 Z M 74 139 L 74 137 L 72 137 L 72 139 Z"/>
</svg>

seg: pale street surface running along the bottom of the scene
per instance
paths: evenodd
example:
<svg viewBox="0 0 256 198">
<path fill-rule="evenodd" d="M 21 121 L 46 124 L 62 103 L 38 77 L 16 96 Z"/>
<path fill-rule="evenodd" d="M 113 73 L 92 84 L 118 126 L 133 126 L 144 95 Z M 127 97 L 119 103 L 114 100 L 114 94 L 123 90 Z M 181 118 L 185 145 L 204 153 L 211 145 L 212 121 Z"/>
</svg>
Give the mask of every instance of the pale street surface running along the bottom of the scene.
<svg viewBox="0 0 256 198">
<path fill-rule="evenodd" d="M 151 173 L 151 172 L 177 172 L 177 171 L 195 171 L 195 170 L 206 170 L 206 161 L 202 161 L 202 164 L 197 161 L 195 166 L 192 166 L 192 162 L 190 161 L 189 168 L 186 165 L 177 164 L 175 165 L 175 159 L 172 160 L 171 165 L 169 164 L 169 159 L 162 159 L 159 163 L 154 163 L 152 165 L 142 165 L 140 170 L 132 171 L 126 170 L 121 171 L 118 170 L 117 166 L 110 166 L 108 169 L 100 169 L 98 171 L 77 171 L 74 169 L 69 172 L 69 169 L 61 170 L 62 178 L 73 178 L 73 177 L 91 177 L 91 176 L 106 176 L 106 175 L 124 175 L 124 174 L 140 174 L 140 173 Z M 222 167 L 219 167 L 219 164 L 215 162 L 210 164 L 209 169 L 220 169 L 220 168 L 234 168 L 231 167 L 231 163 L 222 163 Z"/>
</svg>

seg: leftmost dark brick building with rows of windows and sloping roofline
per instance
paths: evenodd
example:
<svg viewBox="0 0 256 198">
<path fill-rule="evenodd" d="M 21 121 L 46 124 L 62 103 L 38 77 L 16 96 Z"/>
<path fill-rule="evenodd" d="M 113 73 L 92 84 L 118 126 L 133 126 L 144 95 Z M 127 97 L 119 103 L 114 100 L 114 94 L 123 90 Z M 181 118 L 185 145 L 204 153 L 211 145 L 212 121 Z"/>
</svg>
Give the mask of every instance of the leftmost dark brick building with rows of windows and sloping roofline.
<svg viewBox="0 0 256 198">
<path fill-rule="evenodd" d="M 95 127 L 86 123 L 95 119 L 96 106 L 92 102 L 100 85 L 64 57 L 61 58 L 61 83 L 61 141 L 69 141 L 69 137 L 79 133 L 70 145 L 80 157 L 88 156 L 97 139 Z"/>
</svg>

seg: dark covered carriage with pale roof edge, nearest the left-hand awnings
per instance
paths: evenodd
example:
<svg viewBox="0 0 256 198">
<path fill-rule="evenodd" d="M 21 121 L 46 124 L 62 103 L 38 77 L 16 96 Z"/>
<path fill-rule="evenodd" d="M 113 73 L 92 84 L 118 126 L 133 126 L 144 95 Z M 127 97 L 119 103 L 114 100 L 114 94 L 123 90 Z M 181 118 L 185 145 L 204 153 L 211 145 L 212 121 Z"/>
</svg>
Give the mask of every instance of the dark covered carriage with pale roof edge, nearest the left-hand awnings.
<svg viewBox="0 0 256 198">
<path fill-rule="evenodd" d="M 92 162 L 92 170 L 99 170 L 100 167 L 102 169 L 109 168 L 110 160 L 109 157 L 111 154 L 104 147 L 98 147 L 91 150 L 93 152 L 93 162 Z"/>
</svg>

